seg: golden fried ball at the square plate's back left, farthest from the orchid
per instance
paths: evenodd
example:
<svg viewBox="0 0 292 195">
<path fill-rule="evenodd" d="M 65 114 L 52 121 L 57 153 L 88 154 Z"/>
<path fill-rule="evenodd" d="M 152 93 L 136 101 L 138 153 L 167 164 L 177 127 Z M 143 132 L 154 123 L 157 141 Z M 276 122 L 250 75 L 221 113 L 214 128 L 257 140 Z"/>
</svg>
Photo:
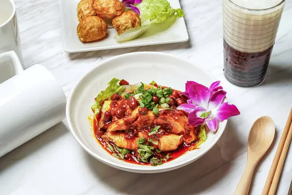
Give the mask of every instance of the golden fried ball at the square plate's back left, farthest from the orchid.
<svg viewBox="0 0 292 195">
<path fill-rule="evenodd" d="M 95 16 L 93 0 L 81 0 L 77 5 L 77 18 L 80 22 L 88 16 Z"/>
</svg>

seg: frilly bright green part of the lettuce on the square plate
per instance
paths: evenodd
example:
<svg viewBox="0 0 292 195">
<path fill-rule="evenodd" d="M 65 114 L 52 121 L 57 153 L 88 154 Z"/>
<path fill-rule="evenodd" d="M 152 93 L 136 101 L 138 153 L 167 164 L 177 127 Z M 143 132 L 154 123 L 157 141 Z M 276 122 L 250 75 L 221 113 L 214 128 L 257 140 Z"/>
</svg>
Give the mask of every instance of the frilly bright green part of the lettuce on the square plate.
<svg viewBox="0 0 292 195">
<path fill-rule="evenodd" d="M 173 16 L 183 17 L 183 10 L 171 8 L 167 0 L 143 0 L 137 7 L 141 13 L 141 26 L 160 23 Z"/>
</svg>

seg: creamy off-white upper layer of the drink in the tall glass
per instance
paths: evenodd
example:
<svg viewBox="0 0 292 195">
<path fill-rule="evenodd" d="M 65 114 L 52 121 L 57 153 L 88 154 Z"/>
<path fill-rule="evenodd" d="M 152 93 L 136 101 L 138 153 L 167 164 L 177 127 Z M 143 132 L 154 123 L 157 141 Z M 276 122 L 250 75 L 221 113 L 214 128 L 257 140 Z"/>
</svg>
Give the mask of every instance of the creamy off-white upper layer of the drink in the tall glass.
<svg viewBox="0 0 292 195">
<path fill-rule="evenodd" d="M 223 0 L 223 36 L 228 45 L 240 52 L 262 52 L 273 46 L 284 3 L 281 0 Z M 237 5 L 235 5 L 236 3 Z"/>
</svg>

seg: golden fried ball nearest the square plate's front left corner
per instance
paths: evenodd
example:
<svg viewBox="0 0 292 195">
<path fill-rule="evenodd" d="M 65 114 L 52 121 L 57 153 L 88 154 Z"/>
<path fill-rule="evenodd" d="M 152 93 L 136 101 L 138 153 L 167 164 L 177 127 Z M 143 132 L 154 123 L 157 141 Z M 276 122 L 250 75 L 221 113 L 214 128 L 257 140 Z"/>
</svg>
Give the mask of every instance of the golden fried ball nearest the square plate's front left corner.
<svg viewBox="0 0 292 195">
<path fill-rule="evenodd" d="M 77 35 L 82 42 L 102 39 L 106 36 L 108 25 L 98 16 L 89 16 L 77 26 Z"/>
</svg>

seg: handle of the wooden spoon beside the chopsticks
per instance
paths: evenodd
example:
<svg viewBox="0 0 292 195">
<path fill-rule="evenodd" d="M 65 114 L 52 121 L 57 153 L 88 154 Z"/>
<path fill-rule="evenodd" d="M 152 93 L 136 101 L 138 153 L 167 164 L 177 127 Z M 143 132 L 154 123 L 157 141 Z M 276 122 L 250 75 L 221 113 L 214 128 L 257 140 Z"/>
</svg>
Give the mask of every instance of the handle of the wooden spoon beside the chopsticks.
<svg viewBox="0 0 292 195">
<path fill-rule="evenodd" d="M 248 160 L 247 160 L 248 161 Z M 256 162 L 247 162 L 245 170 L 241 176 L 241 179 L 237 185 L 234 195 L 247 195 L 253 173 L 256 167 Z"/>
</svg>

